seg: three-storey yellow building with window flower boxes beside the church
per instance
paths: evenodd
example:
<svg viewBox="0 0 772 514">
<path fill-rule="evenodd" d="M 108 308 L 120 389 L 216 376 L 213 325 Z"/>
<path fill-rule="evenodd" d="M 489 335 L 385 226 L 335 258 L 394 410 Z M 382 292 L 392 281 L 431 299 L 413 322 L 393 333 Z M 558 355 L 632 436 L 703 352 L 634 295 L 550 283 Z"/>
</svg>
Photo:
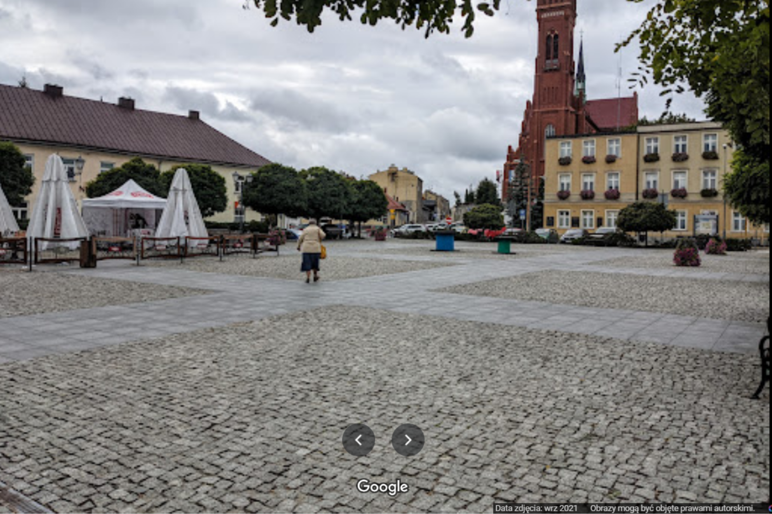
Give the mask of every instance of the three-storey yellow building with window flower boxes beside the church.
<svg viewBox="0 0 772 514">
<path fill-rule="evenodd" d="M 723 177 L 732 152 L 728 133 L 713 122 L 549 138 L 544 226 L 561 234 L 571 228 L 615 227 L 621 209 L 643 200 L 675 210 L 678 221 L 663 234 L 667 239 L 713 232 L 768 240 L 768 226 L 751 227 L 724 202 Z M 592 155 L 594 162 L 587 162 Z M 607 159 L 611 155 L 615 158 Z M 618 194 L 610 192 L 615 188 Z"/>
</svg>

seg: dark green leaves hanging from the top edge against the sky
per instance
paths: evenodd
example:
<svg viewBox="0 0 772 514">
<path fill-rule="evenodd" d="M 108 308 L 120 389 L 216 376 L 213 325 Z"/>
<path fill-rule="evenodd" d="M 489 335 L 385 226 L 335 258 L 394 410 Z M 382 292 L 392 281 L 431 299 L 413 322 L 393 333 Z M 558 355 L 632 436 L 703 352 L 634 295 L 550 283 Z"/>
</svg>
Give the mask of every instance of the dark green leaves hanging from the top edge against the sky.
<svg viewBox="0 0 772 514">
<path fill-rule="evenodd" d="M 404 30 L 415 24 L 416 29 L 425 31 L 427 38 L 435 31 L 449 34 L 453 18 L 460 13 L 464 18 L 462 31 L 469 38 L 475 30 L 477 12 L 493 16 L 500 4 L 501 0 L 476 5 L 472 0 L 245 0 L 243 7 L 249 9 L 249 5 L 255 5 L 266 13 L 273 26 L 279 24 L 279 18 L 287 21 L 295 18 L 308 32 L 322 24 L 322 14 L 327 11 L 337 15 L 341 22 L 351 21 L 356 15 L 365 25 L 391 19 Z"/>
</svg>

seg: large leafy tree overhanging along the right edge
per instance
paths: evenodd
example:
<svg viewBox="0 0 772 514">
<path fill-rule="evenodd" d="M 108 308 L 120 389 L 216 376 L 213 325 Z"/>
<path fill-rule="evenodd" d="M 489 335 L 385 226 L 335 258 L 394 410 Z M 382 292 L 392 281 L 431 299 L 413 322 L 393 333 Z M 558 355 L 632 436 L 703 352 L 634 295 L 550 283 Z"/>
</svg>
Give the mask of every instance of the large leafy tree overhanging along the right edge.
<svg viewBox="0 0 772 514">
<path fill-rule="evenodd" d="M 769 187 L 753 193 L 742 188 L 769 183 L 769 15 L 768 0 L 658 0 L 620 45 L 636 39 L 641 45 L 634 82 L 651 78 L 665 87 L 664 95 L 682 92 L 686 84 L 704 96 L 708 116 L 723 123 L 743 152 L 726 194 L 755 223 L 770 221 Z"/>
</svg>

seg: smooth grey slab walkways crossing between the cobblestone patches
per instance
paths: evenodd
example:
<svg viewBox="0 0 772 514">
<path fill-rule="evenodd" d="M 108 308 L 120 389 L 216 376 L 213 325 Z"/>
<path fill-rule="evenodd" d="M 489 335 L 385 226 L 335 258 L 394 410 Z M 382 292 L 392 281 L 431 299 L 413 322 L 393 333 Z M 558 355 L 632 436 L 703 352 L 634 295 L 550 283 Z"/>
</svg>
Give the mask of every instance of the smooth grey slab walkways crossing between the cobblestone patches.
<svg viewBox="0 0 772 514">
<path fill-rule="evenodd" d="M 100 263 L 96 270 L 66 270 L 114 280 L 196 287 L 212 294 L 164 301 L 0 319 L 0 363 L 46 354 L 78 351 L 222 327 L 239 321 L 303 311 L 327 305 L 378 307 L 388 311 L 429 314 L 490 324 L 594 334 L 630 341 L 647 341 L 704 350 L 750 353 L 757 351 L 765 328 L 761 324 L 645 311 L 577 307 L 435 291 L 543 270 L 582 270 L 649 276 L 689 277 L 696 280 L 769 282 L 768 275 L 694 272 L 677 269 L 603 267 L 594 262 L 634 255 L 634 250 L 571 250 L 528 257 L 528 250 L 512 262 L 479 258 L 476 251 L 459 257 L 383 254 L 362 251 L 372 244 L 341 246 L 336 253 L 349 257 L 395 260 L 442 260 L 457 264 L 402 274 L 324 282 L 313 287 L 298 281 L 225 274 L 196 273 L 170 267 L 137 267 L 128 263 Z M 386 244 L 380 248 L 404 248 Z M 411 245 L 411 248 L 418 246 Z M 538 253 L 539 247 L 533 247 Z M 350 249 L 350 250 L 349 250 Z M 272 257 L 264 257 L 272 258 Z"/>
</svg>

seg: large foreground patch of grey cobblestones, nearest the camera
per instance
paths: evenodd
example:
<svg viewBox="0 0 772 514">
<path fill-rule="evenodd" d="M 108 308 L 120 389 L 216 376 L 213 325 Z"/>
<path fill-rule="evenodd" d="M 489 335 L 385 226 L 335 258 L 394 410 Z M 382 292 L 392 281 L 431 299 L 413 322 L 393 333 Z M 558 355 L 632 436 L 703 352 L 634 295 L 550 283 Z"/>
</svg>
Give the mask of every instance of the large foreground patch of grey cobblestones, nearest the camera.
<svg viewBox="0 0 772 514">
<path fill-rule="evenodd" d="M 747 399 L 755 366 L 743 354 L 323 307 L 4 365 L 0 468 L 62 512 L 764 501 L 769 396 Z M 361 459 L 340 444 L 354 422 L 377 437 Z M 388 442 L 405 422 L 427 438 L 413 458 Z M 361 478 L 410 491 L 359 493 Z"/>
</svg>

